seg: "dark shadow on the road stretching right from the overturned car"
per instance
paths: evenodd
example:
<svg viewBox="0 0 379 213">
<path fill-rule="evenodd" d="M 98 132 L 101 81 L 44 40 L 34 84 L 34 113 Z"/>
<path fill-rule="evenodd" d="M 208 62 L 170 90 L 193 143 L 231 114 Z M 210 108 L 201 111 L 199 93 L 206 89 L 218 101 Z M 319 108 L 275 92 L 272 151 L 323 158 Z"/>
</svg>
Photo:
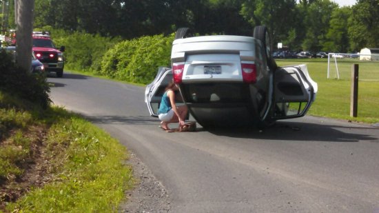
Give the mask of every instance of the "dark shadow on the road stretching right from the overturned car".
<svg viewBox="0 0 379 213">
<path fill-rule="evenodd" d="M 340 129 L 340 130 L 338 130 Z M 232 128 L 206 130 L 218 136 L 229 136 L 243 139 L 269 139 L 278 141 L 328 141 L 358 142 L 371 141 L 379 143 L 377 136 L 350 133 L 349 130 L 377 131 L 369 127 L 347 127 L 315 123 L 277 122 L 270 128 Z M 345 131 L 346 130 L 346 131 Z M 359 131 L 358 131 L 359 132 Z"/>
</svg>

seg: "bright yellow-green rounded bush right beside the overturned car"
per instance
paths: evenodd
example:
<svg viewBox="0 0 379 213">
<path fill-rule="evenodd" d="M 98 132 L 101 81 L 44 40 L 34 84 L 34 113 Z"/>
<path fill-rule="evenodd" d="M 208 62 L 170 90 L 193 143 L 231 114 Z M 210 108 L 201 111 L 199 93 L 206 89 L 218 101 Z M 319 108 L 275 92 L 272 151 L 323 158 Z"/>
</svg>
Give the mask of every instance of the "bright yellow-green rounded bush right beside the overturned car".
<svg viewBox="0 0 379 213">
<path fill-rule="evenodd" d="M 105 53 L 100 74 L 134 83 L 150 83 L 159 66 L 170 65 L 173 40 L 174 34 L 117 43 Z"/>
</svg>

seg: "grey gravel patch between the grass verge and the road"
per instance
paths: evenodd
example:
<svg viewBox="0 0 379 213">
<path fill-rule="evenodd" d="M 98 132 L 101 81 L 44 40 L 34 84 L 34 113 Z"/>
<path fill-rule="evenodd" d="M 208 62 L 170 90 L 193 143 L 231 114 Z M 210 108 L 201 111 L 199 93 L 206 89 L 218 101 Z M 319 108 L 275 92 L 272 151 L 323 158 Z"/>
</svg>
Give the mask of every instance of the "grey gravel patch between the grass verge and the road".
<svg viewBox="0 0 379 213">
<path fill-rule="evenodd" d="M 134 190 L 125 192 L 127 201 L 121 204 L 119 212 L 170 212 L 170 197 L 149 168 L 132 153 L 127 163 L 132 165 L 134 179 L 139 182 Z"/>
</svg>

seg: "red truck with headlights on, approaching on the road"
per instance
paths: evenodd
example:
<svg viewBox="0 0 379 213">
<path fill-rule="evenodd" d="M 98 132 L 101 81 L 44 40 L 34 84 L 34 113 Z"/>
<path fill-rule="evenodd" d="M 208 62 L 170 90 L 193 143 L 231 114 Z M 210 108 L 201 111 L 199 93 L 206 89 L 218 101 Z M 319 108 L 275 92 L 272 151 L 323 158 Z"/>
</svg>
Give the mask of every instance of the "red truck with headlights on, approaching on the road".
<svg viewBox="0 0 379 213">
<path fill-rule="evenodd" d="M 63 77 L 65 46 L 56 48 L 48 32 L 33 32 L 32 39 L 32 50 L 37 59 L 43 63 L 45 71 L 55 72 L 57 77 Z"/>
</svg>

